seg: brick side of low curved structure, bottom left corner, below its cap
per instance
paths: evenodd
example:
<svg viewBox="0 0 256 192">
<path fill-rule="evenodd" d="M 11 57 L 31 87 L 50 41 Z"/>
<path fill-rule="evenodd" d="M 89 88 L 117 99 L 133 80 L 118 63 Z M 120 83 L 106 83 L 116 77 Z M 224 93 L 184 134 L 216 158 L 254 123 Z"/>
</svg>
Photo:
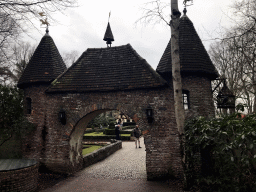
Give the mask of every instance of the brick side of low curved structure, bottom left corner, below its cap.
<svg viewBox="0 0 256 192">
<path fill-rule="evenodd" d="M 11 171 L 0 172 L 0 191 L 36 191 L 38 183 L 38 164 Z"/>
</svg>

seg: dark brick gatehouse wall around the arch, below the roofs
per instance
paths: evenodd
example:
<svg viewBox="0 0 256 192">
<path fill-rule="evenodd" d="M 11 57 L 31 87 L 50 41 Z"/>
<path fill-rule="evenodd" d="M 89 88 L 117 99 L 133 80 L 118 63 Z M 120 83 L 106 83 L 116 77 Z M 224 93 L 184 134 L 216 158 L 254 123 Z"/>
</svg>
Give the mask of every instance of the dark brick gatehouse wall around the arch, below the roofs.
<svg viewBox="0 0 256 192">
<path fill-rule="evenodd" d="M 170 168 L 176 175 L 182 172 L 171 89 L 76 94 L 45 94 L 44 89 L 39 86 L 25 90 L 25 97 L 32 99 L 28 119 L 37 124 L 37 130 L 24 142 L 25 157 L 35 158 L 53 171 L 76 171 L 82 168 L 81 141 L 87 123 L 102 112 L 119 110 L 132 117 L 142 130 L 149 130 L 145 146 L 150 178 L 166 175 Z M 149 105 L 154 113 L 152 124 L 146 117 Z M 58 119 L 61 109 L 66 112 L 66 125 Z"/>
</svg>

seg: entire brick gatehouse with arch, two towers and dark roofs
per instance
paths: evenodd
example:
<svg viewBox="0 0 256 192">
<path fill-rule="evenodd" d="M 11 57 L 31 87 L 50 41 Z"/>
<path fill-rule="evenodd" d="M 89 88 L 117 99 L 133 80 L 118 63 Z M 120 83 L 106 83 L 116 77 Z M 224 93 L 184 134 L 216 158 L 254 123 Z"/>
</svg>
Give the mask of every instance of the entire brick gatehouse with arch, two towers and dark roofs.
<svg viewBox="0 0 256 192">
<path fill-rule="evenodd" d="M 170 43 L 155 71 L 130 44 L 111 47 L 109 24 L 104 40 L 107 48 L 87 49 L 67 69 L 48 31 L 44 35 L 18 82 L 25 93 L 24 112 L 37 127 L 23 143 L 24 157 L 56 172 L 79 170 L 87 124 L 100 113 L 118 110 L 148 130 L 148 179 L 169 171 L 182 177 Z M 186 15 L 180 19 L 180 60 L 187 116 L 214 116 L 211 80 L 218 74 Z M 148 108 L 153 122 L 148 121 Z"/>
</svg>

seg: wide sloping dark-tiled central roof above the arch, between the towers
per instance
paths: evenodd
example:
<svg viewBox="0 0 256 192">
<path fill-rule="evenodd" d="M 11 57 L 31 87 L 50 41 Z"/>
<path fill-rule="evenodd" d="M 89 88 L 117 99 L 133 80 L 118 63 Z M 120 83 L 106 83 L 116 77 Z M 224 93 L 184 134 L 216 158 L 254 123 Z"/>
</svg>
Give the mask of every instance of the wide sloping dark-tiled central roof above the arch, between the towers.
<svg viewBox="0 0 256 192">
<path fill-rule="evenodd" d="M 87 49 L 46 92 L 90 92 L 153 88 L 166 81 L 130 44 Z"/>
</svg>

